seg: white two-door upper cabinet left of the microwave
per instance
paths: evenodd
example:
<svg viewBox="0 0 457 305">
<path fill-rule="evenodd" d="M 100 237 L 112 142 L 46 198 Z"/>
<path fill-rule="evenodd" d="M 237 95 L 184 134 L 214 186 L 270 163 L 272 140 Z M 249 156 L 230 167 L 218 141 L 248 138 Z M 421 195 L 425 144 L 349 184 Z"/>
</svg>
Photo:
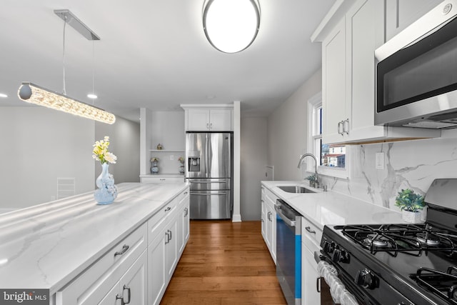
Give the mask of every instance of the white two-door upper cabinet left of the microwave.
<svg viewBox="0 0 457 305">
<path fill-rule="evenodd" d="M 374 50 L 385 42 L 385 17 L 384 1 L 336 1 L 311 36 L 322 42 L 323 143 L 439 136 L 436 131 L 374 124 Z"/>
</svg>

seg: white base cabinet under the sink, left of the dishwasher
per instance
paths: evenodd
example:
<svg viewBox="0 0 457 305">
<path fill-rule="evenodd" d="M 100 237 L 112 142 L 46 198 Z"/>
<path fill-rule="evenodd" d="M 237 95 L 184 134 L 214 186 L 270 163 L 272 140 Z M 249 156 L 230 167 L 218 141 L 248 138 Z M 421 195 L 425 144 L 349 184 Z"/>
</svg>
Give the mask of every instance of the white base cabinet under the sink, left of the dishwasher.
<svg viewBox="0 0 457 305">
<path fill-rule="evenodd" d="M 269 189 L 263 189 L 262 194 L 264 199 L 262 199 L 262 236 L 265 241 L 268 251 L 270 251 L 271 258 L 276 264 L 276 210 L 274 206 L 276 204 L 276 197 Z"/>
</svg>

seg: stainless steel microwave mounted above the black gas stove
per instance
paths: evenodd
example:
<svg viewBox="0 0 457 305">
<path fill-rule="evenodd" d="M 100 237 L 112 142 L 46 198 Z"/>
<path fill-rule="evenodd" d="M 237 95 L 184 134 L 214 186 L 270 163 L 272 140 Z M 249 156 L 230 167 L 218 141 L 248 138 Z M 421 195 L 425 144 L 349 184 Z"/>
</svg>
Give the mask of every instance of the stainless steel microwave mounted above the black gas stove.
<svg viewBox="0 0 457 305">
<path fill-rule="evenodd" d="M 457 128 L 457 0 L 376 49 L 375 124 Z"/>
</svg>

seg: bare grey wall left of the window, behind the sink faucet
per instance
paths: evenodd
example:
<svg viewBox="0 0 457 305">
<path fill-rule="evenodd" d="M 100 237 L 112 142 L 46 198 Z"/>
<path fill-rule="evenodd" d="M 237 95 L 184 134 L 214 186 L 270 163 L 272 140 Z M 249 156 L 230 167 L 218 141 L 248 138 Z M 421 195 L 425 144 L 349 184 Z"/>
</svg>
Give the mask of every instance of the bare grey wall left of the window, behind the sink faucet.
<svg viewBox="0 0 457 305">
<path fill-rule="evenodd" d="M 274 166 L 275 180 L 303 179 L 297 164 L 300 155 L 306 152 L 308 99 L 321 88 L 319 69 L 268 116 L 268 164 Z"/>
</svg>

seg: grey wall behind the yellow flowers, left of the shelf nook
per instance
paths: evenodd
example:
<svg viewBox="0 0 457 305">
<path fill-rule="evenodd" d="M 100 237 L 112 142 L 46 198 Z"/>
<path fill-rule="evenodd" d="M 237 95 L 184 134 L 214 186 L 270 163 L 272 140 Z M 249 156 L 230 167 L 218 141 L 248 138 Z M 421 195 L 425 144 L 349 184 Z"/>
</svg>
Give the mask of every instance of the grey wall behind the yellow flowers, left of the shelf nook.
<svg viewBox="0 0 457 305">
<path fill-rule="evenodd" d="M 109 136 L 109 151 L 117 156 L 116 164 L 110 164 L 116 184 L 139 182 L 140 174 L 140 125 L 121 117 L 116 117 L 113 125 L 96 122 L 95 139 L 102 140 Z M 101 173 L 99 162 L 95 162 L 95 177 Z M 95 184 L 95 179 L 94 179 Z"/>
</svg>

